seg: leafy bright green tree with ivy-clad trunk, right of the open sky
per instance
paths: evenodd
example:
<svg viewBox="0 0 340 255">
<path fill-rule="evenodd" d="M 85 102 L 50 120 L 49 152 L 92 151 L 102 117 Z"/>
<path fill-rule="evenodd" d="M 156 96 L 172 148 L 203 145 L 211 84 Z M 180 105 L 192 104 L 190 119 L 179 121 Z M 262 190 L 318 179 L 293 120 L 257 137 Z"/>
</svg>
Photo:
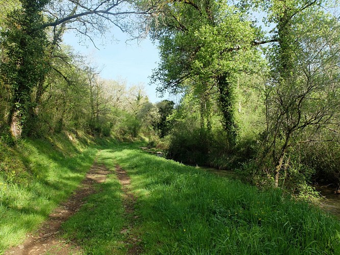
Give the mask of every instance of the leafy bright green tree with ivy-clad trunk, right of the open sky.
<svg viewBox="0 0 340 255">
<path fill-rule="evenodd" d="M 159 90 L 192 86 L 201 94 L 202 116 L 208 98 L 218 93 L 225 130 L 235 141 L 236 77 L 256 66 L 259 54 L 252 46 L 265 43 L 247 14 L 224 1 L 174 1 L 154 20 L 152 33 L 160 40 L 161 63 L 152 76 L 161 82 Z"/>
</svg>

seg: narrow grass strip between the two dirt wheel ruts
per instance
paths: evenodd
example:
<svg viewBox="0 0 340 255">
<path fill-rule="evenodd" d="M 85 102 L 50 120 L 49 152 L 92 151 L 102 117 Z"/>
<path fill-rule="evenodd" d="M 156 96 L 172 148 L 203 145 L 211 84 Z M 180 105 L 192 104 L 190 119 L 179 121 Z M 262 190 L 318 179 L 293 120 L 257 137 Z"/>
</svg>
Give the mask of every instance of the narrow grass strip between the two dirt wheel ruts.
<svg viewBox="0 0 340 255">
<path fill-rule="evenodd" d="M 112 150 L 101 150 L 97 163 L 114 170 Z M 120 232 L 127 220 L 123 217 L 122 191 L 115 174 L 96 184 L 98 193 L 62 226 L 64 238 L 81 245 L 87 254 L 126 254 L 125 237 Z"/>
</svg>

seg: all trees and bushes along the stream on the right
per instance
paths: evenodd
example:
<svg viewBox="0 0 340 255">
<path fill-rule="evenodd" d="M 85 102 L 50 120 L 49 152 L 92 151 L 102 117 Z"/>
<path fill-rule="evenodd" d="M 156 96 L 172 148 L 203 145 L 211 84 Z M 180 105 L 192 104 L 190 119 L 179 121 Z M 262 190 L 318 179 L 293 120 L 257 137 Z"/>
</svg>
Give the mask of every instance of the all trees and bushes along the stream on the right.
<svg viewBox="0 0 340 255">
<path fill-rule="evenodd" d="M 153 80 L 161 82 L 161 92 L 185 93 L 169 117 L 174 128 L 168 156 L 238 167 L 244 180 L 270 186 L 274 179 L 276 187 L 300 195 L 312 193 L 312 169 L 334 169 L 329 173 L 338 178 L 330 157 L 320 156 L 316 164 L 301 159 L 302 147 L 313 147 L 308 143 L 338 141 L 335 5 L 273 0 L 162 6 L 152 28 L 161 52 Z M 261 31 L 252 10 L 264 13 L 269 33 Z M 328 154 L 337 157 L 337 151 Z M 315 158 L 310 152 L 308 157 Z"/>
</svg>

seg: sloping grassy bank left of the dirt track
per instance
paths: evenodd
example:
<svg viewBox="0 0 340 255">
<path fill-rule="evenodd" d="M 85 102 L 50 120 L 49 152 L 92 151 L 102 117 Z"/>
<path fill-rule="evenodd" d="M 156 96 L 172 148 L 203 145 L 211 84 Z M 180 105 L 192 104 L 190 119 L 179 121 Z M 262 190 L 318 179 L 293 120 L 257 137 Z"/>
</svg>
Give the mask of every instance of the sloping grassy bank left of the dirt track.
<svg viewBox="0 0 340 255">
<path fill-rule="evenodd" d="M 24 139 L 14 148 L 1 144 L 0 253 L 22 242 L 71 194 L 96 152 L 66 135 Z"/>
</svg>

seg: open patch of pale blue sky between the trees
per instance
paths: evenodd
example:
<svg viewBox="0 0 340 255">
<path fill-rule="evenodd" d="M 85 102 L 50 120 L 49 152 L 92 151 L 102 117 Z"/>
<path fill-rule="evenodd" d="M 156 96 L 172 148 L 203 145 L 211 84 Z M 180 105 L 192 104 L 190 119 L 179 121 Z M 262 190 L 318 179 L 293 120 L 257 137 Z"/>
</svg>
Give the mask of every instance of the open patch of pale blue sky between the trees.
<svg viewBox="0 0 340 255">
<path fill-rule="evenodd" d="M 101 39 L 95 40 L 97 48 L 90 40 L 81 41 L 75 34 L 68 32 L 64 36 L 64 43 L 71 45 L 77 52 L 94 59 L 93 62 L 99 69 L 100 76 L 104 79 L 126 80 L 128 85 L 144 84 L 144 88 L 152 103 L 166 98 L 156 97 L 156 86 L 149 85 L 152 69 L 157 67 L 158 49 L 146 38 L 139 44 L 137 42 L 125 43 L 127 37 L 116 30 L 114 39 L 107 38 L 103 45 Z"/>
</svg>

